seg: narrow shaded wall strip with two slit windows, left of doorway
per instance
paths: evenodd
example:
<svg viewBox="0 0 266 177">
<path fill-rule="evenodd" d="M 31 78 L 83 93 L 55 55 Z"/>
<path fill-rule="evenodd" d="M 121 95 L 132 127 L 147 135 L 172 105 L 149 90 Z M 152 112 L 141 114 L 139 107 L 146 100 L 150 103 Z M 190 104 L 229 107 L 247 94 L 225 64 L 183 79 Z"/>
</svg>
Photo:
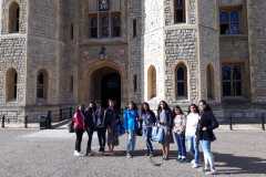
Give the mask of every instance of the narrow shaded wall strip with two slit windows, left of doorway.
<svg viewBox="0 0 266 177">
<path fill-rule="evenodd" d="M 79 1 L 61 1 L 62 22 L 60 23 L 60 41 L 63 41 L 60 56 L 60 104 L 78 103 L 78 32 L 79 32 Z M 71 39 L 71 25 L 73 25 L 73 39 Z M 71 77 L 73 90 L 71 91 Z"/>
</svg>

